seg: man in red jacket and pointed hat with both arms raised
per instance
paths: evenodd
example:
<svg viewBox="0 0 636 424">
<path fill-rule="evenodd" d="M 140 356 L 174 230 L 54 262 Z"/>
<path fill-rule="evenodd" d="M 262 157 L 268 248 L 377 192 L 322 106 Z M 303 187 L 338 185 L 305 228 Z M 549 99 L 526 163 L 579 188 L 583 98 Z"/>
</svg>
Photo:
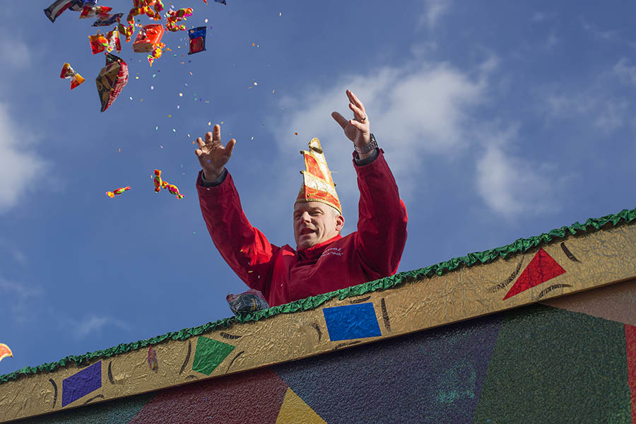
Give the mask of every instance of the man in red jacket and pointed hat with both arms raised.
<svg viewBox="0 0 636 424">
<path fill-rule="evenodd" d="M 307 170 L 294 205 L 296 249 L 272 245 L 245 217 L 225 170 L 236 140 L 223 147 L 218 125 L 205 141 L 196 139 L 195 154 L 203 168 L 196 189 L 214 245 L 270 306 L 373 281 L 397 270 L 406 243 L 406 208 L 384 152 L 370 132 L 364 105 L 350 90 L 346 93 L 354 119 L 331 114 L 353 141 L 360 189 L 358 231 L 345 237 L 340 235 L 344 225 L 340 202 L 317 139 L 310 142 L 310 151 L 301 152 Z"/>
</svg>

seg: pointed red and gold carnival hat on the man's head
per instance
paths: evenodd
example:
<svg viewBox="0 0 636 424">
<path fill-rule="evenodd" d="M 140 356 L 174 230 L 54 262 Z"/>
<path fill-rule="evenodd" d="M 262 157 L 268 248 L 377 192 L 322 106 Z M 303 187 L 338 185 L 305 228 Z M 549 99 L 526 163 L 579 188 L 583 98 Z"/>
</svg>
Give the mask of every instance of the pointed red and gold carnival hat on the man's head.
<svg viewBox="0 0 636 424">
<path fill-rule="evenodd" d="M 340 206 L 340 200 L 338 200 L 336 193 L 336 184 L 331 179 L 331 171 L 326 165 L 320 141 L 312 139 L 309 142 L 309 151 L 300 151 L 300 154 L 305 158 L 307 170 L 300 171 L 303 181 L 295 203 L 320 201 L 336 208 L 342 214 L 342 206 Z"/>
</svg>

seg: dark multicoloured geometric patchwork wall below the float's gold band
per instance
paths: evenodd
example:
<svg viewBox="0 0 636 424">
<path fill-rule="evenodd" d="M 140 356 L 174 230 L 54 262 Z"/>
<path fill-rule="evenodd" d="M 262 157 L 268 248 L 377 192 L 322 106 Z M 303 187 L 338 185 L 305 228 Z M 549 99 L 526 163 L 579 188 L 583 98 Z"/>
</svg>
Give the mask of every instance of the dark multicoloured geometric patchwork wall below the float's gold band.
<svg viewBox="0 0 636 424">
<path fill-rule="evenodd" d="M 530 305 L 29 422 L 632 423 L 635 376 L 636 326 Z"/>
</svg>

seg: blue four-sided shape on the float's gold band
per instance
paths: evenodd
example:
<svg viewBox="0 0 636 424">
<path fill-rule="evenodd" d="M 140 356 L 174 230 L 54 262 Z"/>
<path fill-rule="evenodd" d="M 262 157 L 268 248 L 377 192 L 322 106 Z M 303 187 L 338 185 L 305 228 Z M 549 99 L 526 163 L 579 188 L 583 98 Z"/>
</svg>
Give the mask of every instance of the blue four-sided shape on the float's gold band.
<svg viewBox="0 0 636 424">
<path fill-rule="evenodd" d="M 322 313 L 331 341 L 382 336 L 372 302 L 325 307 Z"/>
</svg>

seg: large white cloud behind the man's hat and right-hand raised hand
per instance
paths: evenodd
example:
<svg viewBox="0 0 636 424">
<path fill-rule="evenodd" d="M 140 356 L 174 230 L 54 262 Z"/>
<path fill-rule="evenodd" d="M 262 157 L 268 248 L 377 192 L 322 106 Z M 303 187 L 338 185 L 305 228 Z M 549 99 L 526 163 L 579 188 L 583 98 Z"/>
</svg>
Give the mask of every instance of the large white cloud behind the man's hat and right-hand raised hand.
<svg viewBox="0 0 636 424">
<path fill-rule="evenodd" d="M 404 199 L 418 184 L 413 170 L 425 156 L 449 157 L 467 146 L 469 137 L 464 129 L 471 121 L 470 108 L 485 96 L 482 78 L 476 80 L 449 64 L 437 63 L 401 69 L 387 66 L 367 76 L 343 78 L 331 88 L 315 88 L 302 98 L 284 99 L 285 107 L 294 112 L 284 122 L 270 126 L 278 128 L 274 135 L 283 156 L 279 165 L 285 168 L 293 164 L 300 170 L 299 146 L 306 148 L 307 141 L 318 137 L 331 170 L 338 171 L 334 179 L 339 196 L 355 199 L 358 188 L 351 167 L 351 141 L 330 115 L 335 110 L 345 117 L 352 116 L 347 107 L 347 88 L 365 104 L 372 131 L 389 155 L 387 160 L 399 179 Z M 295 131 L 302 143 L 291 135 Z M 288 184 L 297 191 L 300 177 Z M 285 192 L 293 192 L 293 187 Z"/>
</svg>

